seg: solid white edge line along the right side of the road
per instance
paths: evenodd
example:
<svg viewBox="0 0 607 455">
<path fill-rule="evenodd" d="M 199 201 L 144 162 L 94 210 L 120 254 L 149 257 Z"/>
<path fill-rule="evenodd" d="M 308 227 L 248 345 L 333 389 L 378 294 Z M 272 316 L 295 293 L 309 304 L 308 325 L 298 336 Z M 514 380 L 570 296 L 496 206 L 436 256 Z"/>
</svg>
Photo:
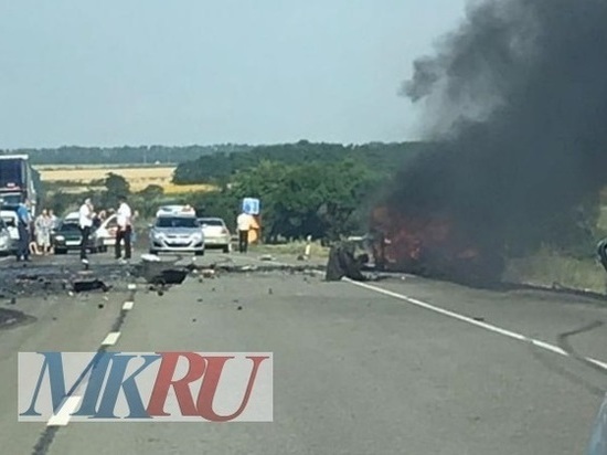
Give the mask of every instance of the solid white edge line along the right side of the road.
<svg viewBox="0 0 607 455">
<path fill-rule="evenodd" d="M 525 342 L 529 342 L 533 346 L 536 346 L 537 348 L 542 348 L 542 349 L 545 349 L 547 351 L 551 351 L 551 352 L 554 352 L 554 353 L 557 353 L 557 355 L 561 355 L 561 356 L 571 357 L 571 355 L 567 351 L 563 350 L 562 348 L 560 348 L 557 346 L 551 345 L 549 342 L 537 340 L 537 339 L 534 339 L 534 338 L 530 338 L 530 337 L 526 337 L 524 335 L 517 334 L 514 331 L 505 330 L 505 329 L 502 329 L 500 327 L 493 326 L 491 324 L 482 322 L 480 320 L 472 319 L 468 316 L 464 316 L 464 315 L 460 315 L 460 314 L 455 313 L 455 311 L 449 311 L 448 309 L 444 309 L 444 308 L 427 304 L 427 303 L 418 300 L 416 298 L 407 297 L 406 295 L 403 295 L 403 294 L 393 293 L 392 290 L 383 289 L 383 288 L 377 287 L 377 286 L 373 286 L 373 285 L 370 285 L 370 284 L 366 284 L 366 283 L 361 283 L 361 282 L 354 282 L 354 281 L 349 279 L 349 278 L 343 278 L 343 281 L 348 282 L 350 284 L 353 284 L 355 286 L 360 286 L 360 287 L 363 287 L 365 289 L 373 290 L 375 293 L 380 293 L 380 294 L 383 294 L 383 295 L 386 295 L 386 296 L 390 296 L 390 297 L 394 297 L 394 298 L 397 298 L 400 300 L 405 300 L 405 301 L 407 301 L 412 305 L 415 305 L 417 307 L 425 308 L 425 309 L 428 309 L 430 311 L 438 313 L 443 316 L 447 316 L 447 317 L 450 317 L 450 318 L 454 318 L 454 319 L 457 319 L 457 320 L 461 320 L 464 322 L 468 322 L 472 326 L 483 328 L 483 329 L 489 330 L 491 332 L 503 335 L 504 337 L 513 338 L 513 339 L 519 340 L 519 341 L 525 341 Z M 589 358 L 589 357 L 585 357 L 584 360 L 586 360 L 586 361 L 588 361 L 588 362 L 590 362 L 590 363 L 593 363 L 597 367 L 600 367 L 604 370 L 607 370 L 607 363 L 606 362 L 603 362 L 600 360 L 596 360 L 596 359 L 593 359 L 593 358 Z"/>
</svg>

